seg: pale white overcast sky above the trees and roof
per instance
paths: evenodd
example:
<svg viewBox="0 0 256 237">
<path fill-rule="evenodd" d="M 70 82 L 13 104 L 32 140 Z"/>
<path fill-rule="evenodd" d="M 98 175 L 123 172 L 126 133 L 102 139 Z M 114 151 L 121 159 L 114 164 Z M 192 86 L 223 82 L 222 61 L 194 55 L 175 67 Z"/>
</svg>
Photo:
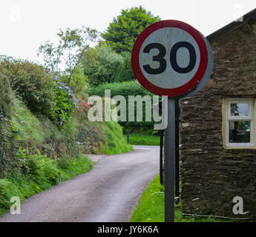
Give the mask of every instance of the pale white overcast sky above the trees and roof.
<svg viewBox="0 0 256 237">
<path fill-rule="evenodd" d="M 59 28 L 91 27 L 103 32 L 122 9 L 140 6 L 162 20 L 191 24 L 204 36 L 256 8 L 255 0 L 1 0 L 0 54 L 38 60 L 45 41 Z"/>
</svg>

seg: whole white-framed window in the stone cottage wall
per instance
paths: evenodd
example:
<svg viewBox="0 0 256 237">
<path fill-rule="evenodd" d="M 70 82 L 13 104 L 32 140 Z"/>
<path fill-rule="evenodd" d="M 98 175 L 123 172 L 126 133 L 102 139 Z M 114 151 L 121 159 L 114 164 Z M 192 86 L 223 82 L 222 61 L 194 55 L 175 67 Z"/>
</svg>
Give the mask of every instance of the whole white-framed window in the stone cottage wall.
<svg viewBox="0 0 256 237">
<path fill-rule="evenodd" d="M 254 147 L 253 100 L 226 100 L 226 147 Z"/>
</svg>

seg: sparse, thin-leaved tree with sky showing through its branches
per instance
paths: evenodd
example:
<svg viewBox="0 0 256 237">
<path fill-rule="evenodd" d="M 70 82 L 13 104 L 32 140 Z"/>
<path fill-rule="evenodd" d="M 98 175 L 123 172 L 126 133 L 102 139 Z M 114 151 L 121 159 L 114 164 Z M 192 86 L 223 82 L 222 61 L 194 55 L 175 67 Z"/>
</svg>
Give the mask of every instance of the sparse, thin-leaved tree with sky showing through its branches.
<svg viewBox="0 0 256 237">
<path fill-rule="evenodd" d="M 54 46 L 47 41 L 39 47 L 38 55 L 43 56 L 45 67 L 54 72 L 59 71 L 60 65 L 65 63 L 63 73 L 68 76 L 69 83 L 76 67 L 82 61 L 85 50 L 89 47 L 88 41 L 95 41 L 98 33 L 89 27 L 82 27 L 82 29 L 59 30 L 57 35 L 59 44 Z"/>
</svg>

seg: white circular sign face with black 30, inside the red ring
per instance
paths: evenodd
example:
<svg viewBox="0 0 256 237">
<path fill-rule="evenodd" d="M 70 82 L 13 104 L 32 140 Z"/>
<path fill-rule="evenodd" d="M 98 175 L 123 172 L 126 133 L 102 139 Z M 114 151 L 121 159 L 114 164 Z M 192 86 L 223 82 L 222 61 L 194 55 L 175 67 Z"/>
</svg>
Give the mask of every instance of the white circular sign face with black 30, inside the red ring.
<svg viewBox="0 0 256 237">
<path fill-rule="evenodd" d="M 156 42 L 158 45 L 154 46 Z M 180 42 L 184 43 L 175 50 L 175 45 L 179 46 Z M 148 53 L 145 53 L 148 46 L 151 48 L 146 51 Z M 154 58 L 156 56 L 157 59 Z M 176 65 L 171 64 L 171 58 L 177 61 Z M 188 83 L 197 73 L 200 64 L 200 50 L 197 42 L 185 30 L 165 27 L 154 31 L 145 39 L 140 49 L 139 61 L 142 73 L 148 81 L 157 87 L 173 89 Z M 191 66 L 189 67 L 189 65 Z M 151 74 L 151 70 L 147 70 L 147 68 L 157 70 L 160 67 L 165 67 L 165 70 L 159 70 L 157 74 Z"/>
</svg>

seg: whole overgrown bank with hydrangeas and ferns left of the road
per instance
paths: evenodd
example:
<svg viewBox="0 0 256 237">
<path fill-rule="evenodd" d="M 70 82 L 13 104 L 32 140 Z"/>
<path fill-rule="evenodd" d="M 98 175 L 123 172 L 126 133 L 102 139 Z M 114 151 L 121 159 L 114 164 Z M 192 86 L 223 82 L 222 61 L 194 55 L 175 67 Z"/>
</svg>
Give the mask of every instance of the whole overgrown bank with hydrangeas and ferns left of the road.
<svg viewBox="0 0 256 237">
<path fill-rule="evenodd" d="M 0 215 L 13 196 L 24 201 L 91 170 L 83 153 L 132 150 L 116 122 L 88 121 L 88 104 L 59 76 L 5 58 L 0 69 Z"/>
</svg>

